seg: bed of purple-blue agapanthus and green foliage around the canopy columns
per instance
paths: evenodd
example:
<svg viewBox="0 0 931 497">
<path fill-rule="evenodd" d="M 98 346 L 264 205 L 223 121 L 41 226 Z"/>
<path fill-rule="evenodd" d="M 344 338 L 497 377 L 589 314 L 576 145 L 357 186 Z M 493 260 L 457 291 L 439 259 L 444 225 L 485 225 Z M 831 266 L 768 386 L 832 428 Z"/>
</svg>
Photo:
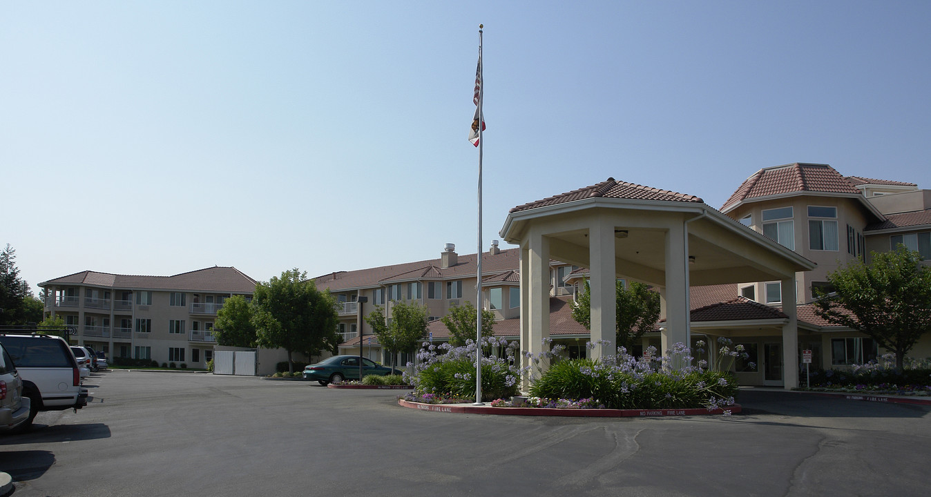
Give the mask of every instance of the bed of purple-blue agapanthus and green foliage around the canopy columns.
<svg viewBox="0 0 931 497">
<path fill-rule="evenodd" d="M 541 359 L 551 363 L 542 374 L 534 375 L 538 370 L 534 366 L 515 369 L 515 343 L 492 338 L 483 345 L 507 352 L 506 358 L 482 358 L 482 400 L 491 401 L 495 408 L 725 411 L 735 403 L 737 384 L 730 364 L 722 363 L 745 354 L 739 346 L 731 350 L 730 341 L 723 339 L 719 363 L 705 369 L 704 363 L 692 365 L 691 350 L 682 344 L 664 357 L 656 357 L 652 347 L 641 357 L 629 356 L 621 348 L 617 356 L 598 361 L 565 359 L 554 346 L 541 357 L 525 355 L 533 365 Z M 474 343 L 457 348 L 430 346 L 418 356 L 421 365 L 410 378 L 414 392 L 402 399 L 423 404 L 474 401 L 475 350 Z M 516 396 L 521 374 L 531 379 L 531 397 Z"/>
</svg>

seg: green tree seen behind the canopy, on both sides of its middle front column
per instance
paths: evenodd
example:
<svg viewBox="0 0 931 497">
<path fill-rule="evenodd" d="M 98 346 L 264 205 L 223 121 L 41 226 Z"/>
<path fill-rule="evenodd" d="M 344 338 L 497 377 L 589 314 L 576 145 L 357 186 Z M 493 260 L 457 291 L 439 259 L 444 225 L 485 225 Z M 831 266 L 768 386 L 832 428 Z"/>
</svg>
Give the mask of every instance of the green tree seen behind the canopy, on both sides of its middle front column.
<svg viewBox="0 0 931 497">
<path fill-rule="evenodd" d="M 629 351 L 640 343 L 644 333 L 656 329 L 660 311 L 659 293 L 636 281 L 625 289 L 624 282 L 617 280 L 614 299 L 617 346 Z M 585 288 L 573 300 L 573 319 L 585 329 L 591 330 L 591 289 L 587 281 Z"/>
</svg>

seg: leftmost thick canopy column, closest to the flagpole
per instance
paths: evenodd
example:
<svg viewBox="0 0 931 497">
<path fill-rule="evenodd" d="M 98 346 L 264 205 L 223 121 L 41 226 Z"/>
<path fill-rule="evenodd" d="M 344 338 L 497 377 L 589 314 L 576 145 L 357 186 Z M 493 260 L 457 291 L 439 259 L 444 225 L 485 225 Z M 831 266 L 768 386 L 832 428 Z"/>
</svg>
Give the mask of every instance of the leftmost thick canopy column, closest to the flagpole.
<svg viewBox="0 0 931 497">
<path fill-rule="evenodd" d="M 529 279 L 527 295 L 527 342 L 521 343 L 522 350 L 539 357 L 545 350 L 543 339 L 549 338 L 549 239 L 536 232 L 528 237 Z M 533 366 L 533 374 L 549 367 L 549 361 L 541 359 Z"/>
</svg>

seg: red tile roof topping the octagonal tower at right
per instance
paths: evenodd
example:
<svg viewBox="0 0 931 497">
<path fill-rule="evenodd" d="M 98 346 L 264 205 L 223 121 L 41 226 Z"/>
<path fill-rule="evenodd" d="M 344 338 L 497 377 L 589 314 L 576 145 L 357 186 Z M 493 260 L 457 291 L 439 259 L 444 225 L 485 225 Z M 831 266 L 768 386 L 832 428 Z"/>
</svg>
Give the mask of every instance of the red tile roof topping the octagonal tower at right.
<svg viewBox="0 0 931 497">
<path fill-rule="evenodd" d="M 825 192 L 861 195 L 860 191 L 834 168 L 827 164 L 789 164 L 776 168 L 762 168 L 737 187 L 721 210 L 737 204 L 770 195 L 793 192 Z"/>
</svg>

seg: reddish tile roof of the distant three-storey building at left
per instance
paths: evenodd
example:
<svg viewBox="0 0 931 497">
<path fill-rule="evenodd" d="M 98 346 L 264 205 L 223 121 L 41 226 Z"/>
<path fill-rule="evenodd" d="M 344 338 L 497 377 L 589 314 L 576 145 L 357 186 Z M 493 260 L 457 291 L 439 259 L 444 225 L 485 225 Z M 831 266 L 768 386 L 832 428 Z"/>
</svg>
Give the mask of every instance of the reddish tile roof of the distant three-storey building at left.
<svg viewBox="0 0 931 497">
<path fill-rule="evenodd" d="M 81 271 L 40 283 L 51 285 L 87 285 L 113 289 L 154 289 L 252 293 L 256 281 L 232 266 L 214 266 L 171 276 L 113 275 Z"/>
</svg>

